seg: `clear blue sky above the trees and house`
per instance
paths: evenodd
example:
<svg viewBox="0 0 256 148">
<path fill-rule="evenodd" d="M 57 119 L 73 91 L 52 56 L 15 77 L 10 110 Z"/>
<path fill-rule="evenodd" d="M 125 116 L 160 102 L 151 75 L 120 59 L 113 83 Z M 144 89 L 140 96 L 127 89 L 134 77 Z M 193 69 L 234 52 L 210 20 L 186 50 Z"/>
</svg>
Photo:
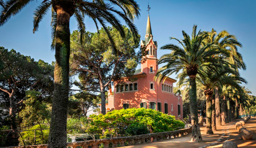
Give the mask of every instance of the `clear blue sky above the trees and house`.
<svg viewBox="0 0 256 148">
<path fill-rule="evenodd" d="M 50 13 L 40 23 L 39 31 L 34 34 L 32 32 L 33 12 L 39 2 L 42 0 L 32 2 L 0 27 L 0 46 L 51 63 L 55 58 L 54 52 L 50 50 Z M 137 0 L 137 2 L 141 8 L 141 16 L 134 23 L 144 39 L 149 2 L 153 38 L 157 41 L 158 48 L 168 43 L 177 44 L 174 40 L 170 41 L 169 37 L 182 38 L 182 30 L 191 34 L 194 24 L 203 31 L 214 28 L 219 32 L 225 29 L 236 35 L 243 44 L 239 52 L 247 65 L 247 70 L 241 71 L 241 76 L 248 81 L 246 87 L 256 95 L 254 84 L 256 82 L 256 0 Z M 86 18 L 85 23 L 87 31 L 96 31 L 92 20 Z M 76 30 L 76 21 L 73 17 L 70 30 Z M 166 52 L 168 51 L 158 50 L 158 58 Z"/>
</svg>

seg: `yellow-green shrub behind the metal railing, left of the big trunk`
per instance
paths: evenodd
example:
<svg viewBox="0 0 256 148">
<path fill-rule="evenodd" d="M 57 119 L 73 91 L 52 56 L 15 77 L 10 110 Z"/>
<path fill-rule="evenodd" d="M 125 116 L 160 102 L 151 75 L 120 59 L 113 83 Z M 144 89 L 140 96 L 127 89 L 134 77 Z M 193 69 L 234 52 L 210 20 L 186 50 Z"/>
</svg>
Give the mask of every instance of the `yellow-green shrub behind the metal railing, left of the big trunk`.
<svg viewBox="0 0 256 148">
<path fill-rule="evenodd" d="M 48 125 L 41 125 L 43 130 L 36 130 L 36 144 L 47 144 L 48 143 L 48 136 L 49 136 L 49 128 Z M 26 129 L 26 130 L 33 130 L 33 129 L 41 129 L 40 125 L 34 125 L 33 127 Z M 22 138 L 19 138 L 19 144 L 23 144 L 23 140 L 25 145 L 33 145 L 34 144 L 34 137 L 35 131 L 23 131 L 21 132 Z"/>
</svg>

